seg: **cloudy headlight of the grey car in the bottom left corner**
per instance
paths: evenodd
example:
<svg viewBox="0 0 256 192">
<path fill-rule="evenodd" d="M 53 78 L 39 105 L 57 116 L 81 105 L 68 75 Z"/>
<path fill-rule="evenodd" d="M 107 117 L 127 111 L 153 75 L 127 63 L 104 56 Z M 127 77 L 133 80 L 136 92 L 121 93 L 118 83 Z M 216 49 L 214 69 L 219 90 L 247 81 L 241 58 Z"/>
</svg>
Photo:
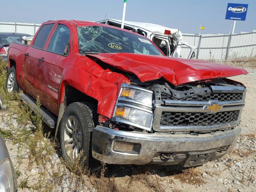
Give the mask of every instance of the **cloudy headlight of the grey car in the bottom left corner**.
<svg viewBox="0 0 256 192">
<path fill-rule="evenodd" d="M 8 159 L 0 163 L 0 192 L 14 192 L 12 166 Z"/>
</svg>

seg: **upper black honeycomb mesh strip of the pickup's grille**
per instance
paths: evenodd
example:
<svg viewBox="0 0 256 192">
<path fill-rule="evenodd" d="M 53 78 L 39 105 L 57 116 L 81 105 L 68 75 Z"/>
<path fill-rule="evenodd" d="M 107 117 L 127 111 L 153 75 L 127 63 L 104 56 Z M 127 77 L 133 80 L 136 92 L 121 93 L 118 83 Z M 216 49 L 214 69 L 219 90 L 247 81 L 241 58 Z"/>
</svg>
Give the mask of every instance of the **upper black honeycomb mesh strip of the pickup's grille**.
<svg viewBox="0 0 256 192">
<path fill-rule="evenodd" d="M 171 96 L 161 93 L 161 98 L 164 100 L 172 99 Z M 182 101 L 208 101 L 208 100 L 219 100 L 219 101 L 238 101 L 242 100 L 243 93 L 208 93 L 208 94 L 197 94 L 187 98 L 180 99 Z"/>
</svg>

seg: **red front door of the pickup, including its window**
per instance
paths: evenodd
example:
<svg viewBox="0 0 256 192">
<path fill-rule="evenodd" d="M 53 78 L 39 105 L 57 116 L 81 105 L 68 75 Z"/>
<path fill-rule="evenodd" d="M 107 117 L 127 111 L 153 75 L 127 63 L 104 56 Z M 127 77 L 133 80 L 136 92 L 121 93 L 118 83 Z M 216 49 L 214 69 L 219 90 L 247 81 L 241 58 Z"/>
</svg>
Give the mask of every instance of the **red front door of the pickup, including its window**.
<svg viewBox="0 0 256 192">
<path fill-rule="evenodd" d="M 69 48 L 70 29 L 66 24 L 58 23 L 42 51 L 44 61 L 38 66 L 36 78 L 36 91 L 42 104 L 55 115 L 58 115 L 58 92 Z"/>
</svg>

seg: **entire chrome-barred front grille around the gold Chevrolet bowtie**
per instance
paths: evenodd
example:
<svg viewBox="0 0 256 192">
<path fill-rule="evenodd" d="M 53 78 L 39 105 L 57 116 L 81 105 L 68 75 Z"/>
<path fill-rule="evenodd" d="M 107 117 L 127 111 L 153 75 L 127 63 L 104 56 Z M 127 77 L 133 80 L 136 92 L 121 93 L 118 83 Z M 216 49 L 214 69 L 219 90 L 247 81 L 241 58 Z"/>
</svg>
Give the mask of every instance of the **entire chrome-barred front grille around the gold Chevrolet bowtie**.
<svg viewBox="0 0 256 192">
<path fill-rule="evenodd" d="M 208 132 L 237 126 L 246 89 L 243 86 L 211 86 L 211 89 L 210 93 L 202 92 L 180 100 L 159 92 L 160 97 L 155 97 L 152 129 L 158 132 Z"/>
</svg>

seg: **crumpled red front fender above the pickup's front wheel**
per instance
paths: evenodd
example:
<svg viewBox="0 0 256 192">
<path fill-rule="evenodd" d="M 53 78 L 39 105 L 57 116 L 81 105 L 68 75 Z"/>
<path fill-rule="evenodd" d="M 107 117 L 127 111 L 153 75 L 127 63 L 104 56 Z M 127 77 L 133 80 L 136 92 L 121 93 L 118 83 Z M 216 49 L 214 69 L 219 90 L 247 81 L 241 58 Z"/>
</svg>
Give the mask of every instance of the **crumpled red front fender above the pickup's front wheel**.
<svg viewBox="0 0 256 192">
<path fill-rule="evenodd" d="M 111 118 L 120 85 L 129 82 L 129 79 L 123 74 L 103 69 L 85 56 L 74 55 L 74 61 L 70 63 L 74 64 L 68 64 L 65 67 L 61 84 L 68 84 L 98 100 L 97 113 Z M 63 102 L 63 97 L 64 94 L 59 100 L 60 103 Z"/>
</svg>

